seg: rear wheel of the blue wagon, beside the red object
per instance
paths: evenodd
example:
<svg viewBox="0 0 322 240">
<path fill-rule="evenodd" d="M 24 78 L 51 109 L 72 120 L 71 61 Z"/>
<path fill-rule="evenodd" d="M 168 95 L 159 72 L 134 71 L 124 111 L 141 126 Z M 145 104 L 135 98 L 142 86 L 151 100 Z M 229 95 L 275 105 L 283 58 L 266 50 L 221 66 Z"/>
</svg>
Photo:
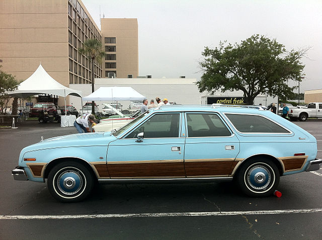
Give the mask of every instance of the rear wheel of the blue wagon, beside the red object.
<svg viewBox="0 0 322 240">
<path fill-rule="evenodd" d="M 240 166 L 236 176 L 240 189 L 251 197 L 266 197 L 273 194 L 279 179 L 276 165 L 266 158 L 253 158 L 247 161 Z"/>
</svg>

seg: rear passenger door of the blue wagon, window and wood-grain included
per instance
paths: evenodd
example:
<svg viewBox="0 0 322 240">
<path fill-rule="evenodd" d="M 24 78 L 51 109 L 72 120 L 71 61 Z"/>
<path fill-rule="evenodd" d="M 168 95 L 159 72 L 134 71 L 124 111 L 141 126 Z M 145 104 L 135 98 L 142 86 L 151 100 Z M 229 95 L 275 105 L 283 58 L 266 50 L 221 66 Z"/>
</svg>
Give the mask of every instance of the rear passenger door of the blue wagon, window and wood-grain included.
<svg viewBox="0 0 322 240">
<path fill-rule="evenodd" d="M 236 165 L 237 137 L 213 112 L 185 114 L 187 138 L 185 170 L 188 178 L 227 177 Z"/>
</svg>

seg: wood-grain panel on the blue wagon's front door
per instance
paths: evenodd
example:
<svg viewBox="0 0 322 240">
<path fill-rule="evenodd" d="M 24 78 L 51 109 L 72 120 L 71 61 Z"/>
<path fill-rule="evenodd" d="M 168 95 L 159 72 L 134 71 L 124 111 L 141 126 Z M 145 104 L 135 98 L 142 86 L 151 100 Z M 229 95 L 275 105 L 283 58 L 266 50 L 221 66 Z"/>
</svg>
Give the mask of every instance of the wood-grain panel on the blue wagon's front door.
<svg viewBox="0 0 322 240">
<path fill-rule="evenodd" d="M 183 162 L 107 164 L 111 178 L 120 177 L 185 177 Z"/>
</svg>

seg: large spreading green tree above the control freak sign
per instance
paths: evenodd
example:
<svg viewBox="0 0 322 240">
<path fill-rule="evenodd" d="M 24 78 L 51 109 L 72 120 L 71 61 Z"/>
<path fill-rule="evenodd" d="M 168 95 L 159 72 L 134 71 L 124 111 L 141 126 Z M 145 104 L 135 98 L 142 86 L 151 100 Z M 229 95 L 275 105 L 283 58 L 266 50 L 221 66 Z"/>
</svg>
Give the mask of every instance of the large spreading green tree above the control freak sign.
<svg viewBox="0 0 322 240">
<path fill-rule="evenodd" d="M 296 87 L 290 80 L 301 81 L 304 65 L 300 59 L 308 49 L 286 51 L 276 39 L 260 35 L 234 45 L 220 42 L 219 47 L 205 47 L 199 62 L 203 75 L 197 82 L 199 91 L 241 90 L 248 104 L 259 94 L 288 95 Z"/>
</svg>

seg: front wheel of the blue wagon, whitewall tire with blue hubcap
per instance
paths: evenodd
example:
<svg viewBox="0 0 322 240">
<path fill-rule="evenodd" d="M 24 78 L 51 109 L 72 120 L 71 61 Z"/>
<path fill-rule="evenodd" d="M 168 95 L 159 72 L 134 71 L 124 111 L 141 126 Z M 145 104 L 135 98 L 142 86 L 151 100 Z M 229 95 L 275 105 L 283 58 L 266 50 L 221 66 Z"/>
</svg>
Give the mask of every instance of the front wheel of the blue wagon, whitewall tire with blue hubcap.
<svg viewBox="0 0 322 240">
<path fill-rule="evenodd" d="M 49 192 L 58 201 L 77 202 L 91 193 L 94 177 L 84 165 L 67 161 L 49 172 L 47 184 Z"/>
</svg>

